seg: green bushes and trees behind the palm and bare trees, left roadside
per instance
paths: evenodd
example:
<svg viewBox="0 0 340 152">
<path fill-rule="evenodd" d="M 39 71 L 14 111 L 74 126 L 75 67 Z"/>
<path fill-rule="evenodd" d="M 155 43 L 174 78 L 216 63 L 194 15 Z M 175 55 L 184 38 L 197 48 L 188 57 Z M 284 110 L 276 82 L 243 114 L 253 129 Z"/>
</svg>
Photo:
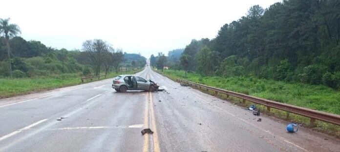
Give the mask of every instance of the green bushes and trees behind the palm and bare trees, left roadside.
<svg viewBox="0 0 340 152">
<path fill-rule="evenodd" d="M 10 45 L 11 65 L 14 77 L 50 76 L 63 73 L 82 73 L 83 75 L 96 75 L 99 72 L 115 71 L 115 67 L 143 67 L 146 58 L 139 54 L 123 53 L 121 49 L 110 48 L 98 67 L 94 66 L 89 52 L 80 50 L 54 49 L 47 47 L 40 41 L 26 41 L 21 37 L 8 40 Z M 104 41 L 103 44 L 106 44 Z M 107 58 L 109 57 L 109 58 Z M 63 66 L 64 61 L 64 66 Z M 0 37 L 0 77 L 10 76 L 8 66 L 7 47 L 4 37 Z"/>
</svg>

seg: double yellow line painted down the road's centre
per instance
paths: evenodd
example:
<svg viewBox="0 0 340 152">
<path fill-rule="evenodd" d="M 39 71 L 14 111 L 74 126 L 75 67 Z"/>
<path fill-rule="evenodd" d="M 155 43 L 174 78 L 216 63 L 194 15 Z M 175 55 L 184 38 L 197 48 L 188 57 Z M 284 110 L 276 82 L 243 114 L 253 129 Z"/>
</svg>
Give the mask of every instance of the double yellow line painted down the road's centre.
<svg viewBox="0 0 340 152">
<path fill-rule="evenodd" d="M 147 78 L 149 78 L 149 75 L 147 76 Z M 148 92 L 147 96 L 148 97 L 146 98 L 145 102 L 144 128 L 150 128 L 153 133 L 152 135 L 148 133 L 144 134 L 143 152 L 149 152 L 149 146 L 153 146 L 153 152 L 160 152 L 155 114 L 153 111 L 152 93 Z M 149 119 L 151 120 L 151 127 L 149 127 Z M 149 144 L 150 137 L 152 137 L 152 145 Z"/>
</svg>

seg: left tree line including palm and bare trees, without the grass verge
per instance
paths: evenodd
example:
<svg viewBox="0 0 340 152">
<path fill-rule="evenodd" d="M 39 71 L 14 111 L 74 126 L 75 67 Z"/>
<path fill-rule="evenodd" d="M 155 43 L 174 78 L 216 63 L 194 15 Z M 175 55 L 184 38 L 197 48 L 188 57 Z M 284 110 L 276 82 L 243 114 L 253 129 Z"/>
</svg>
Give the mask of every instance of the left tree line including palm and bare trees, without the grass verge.
<svg viewBox="0 0 340 152">
<path fill-rule="evenodd" d="M 102 39 L 86 40 L 82 50 L 47 47 L 40 41 L 19 37 L 20 28 L 10 19 L 0 19 L 0 77 L 51 76 L 64 73 L 99 75 L 101 71 L 118 73 L 121 66 L 142 67 L 146 58 L 123 53 Z"/>
</svg>

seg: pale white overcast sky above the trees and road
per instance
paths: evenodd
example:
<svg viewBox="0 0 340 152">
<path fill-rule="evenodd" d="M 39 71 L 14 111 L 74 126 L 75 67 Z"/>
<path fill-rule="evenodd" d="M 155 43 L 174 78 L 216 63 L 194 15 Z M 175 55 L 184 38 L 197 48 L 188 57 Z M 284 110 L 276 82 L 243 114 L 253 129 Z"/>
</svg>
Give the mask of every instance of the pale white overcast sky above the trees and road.
<svg viewBox="0 0 340 152">
<path fill-rule="evenodd" d="M 104 39 L 127 53 L 184 48 L 191 39 L 215 38 L 225 23 L 281 0 L 3 0 L 0 18 L 11 18 L 21 37 L 46 46 L 81 49 Z"/>
</svg>

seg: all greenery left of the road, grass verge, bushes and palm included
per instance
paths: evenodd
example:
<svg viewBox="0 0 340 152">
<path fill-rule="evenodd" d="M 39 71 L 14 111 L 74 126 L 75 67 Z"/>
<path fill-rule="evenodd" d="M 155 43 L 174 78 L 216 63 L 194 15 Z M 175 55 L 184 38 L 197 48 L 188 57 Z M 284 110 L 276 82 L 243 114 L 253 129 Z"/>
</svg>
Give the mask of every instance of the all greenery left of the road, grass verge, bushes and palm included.
<svg viewBox="0 0 340 152">
<path fill-rule="evenodd" d="M 123 53 L 102 39 L 86 40 L 82 50 L 66 50 L 20 34 L 17 24 L 0 19 L 0 98 L 80 84 L 81 77 L 132 74 L 146 64 L 140 54 Z"/>
</svg>

